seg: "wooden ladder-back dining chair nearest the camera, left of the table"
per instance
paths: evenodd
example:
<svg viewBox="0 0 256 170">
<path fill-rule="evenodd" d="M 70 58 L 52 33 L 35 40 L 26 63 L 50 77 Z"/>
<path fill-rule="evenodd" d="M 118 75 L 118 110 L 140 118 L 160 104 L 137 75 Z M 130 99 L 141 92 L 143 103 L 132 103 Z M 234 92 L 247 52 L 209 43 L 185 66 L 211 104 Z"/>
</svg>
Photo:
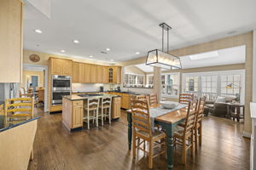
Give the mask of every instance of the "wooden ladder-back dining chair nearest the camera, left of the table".
<svg viewBox="0 0 256 170">
<path fill-rule="evenodd" d="M 157 129 L 152 131 L 150 122 L 149 106 L 147 101 L 132 100 L 131 101 L 132 114 L 132 153 L 133 158 L 136 158 L 136 151 L 143 150 L 148 154 L 148 167 L 153 167 L 153 158 L 166 153 L 166 133 Z M 142 142 L 140 141 L 142 139 Z M 160 140 L 160 142 L 159 142 Z M 148 143 L 148 150 L 145 147 L 145 141 Z M 143 148 L 141 147 L 143 144 Z M 154 148 L 164 146 L 164 150 L 154 155 Z"/>
</svg>

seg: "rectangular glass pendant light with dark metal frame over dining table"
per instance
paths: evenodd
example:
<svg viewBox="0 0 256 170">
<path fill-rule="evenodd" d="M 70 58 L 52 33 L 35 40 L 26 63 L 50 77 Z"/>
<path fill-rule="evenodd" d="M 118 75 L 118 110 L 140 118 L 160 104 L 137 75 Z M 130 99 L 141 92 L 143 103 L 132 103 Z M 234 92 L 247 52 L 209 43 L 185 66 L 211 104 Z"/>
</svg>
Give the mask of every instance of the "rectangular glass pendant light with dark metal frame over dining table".
<svg viewBox="0 0 256 170">
<path fill-rule="evenodd" d="M 180 59 L 172 54 L 168 54 L 169 31 L 172 29 L 172 27 L 166 25 L 166 23 L 160 24 L 160 27 L 162 28 L 162 50 L 154 49 L 148 51 L 146 65 L 160 67 L 167 70 L 181 69 L 182 65 Z M 167 53 L 164 52 L 164 31 L 167 31 Z"/>
</svg>

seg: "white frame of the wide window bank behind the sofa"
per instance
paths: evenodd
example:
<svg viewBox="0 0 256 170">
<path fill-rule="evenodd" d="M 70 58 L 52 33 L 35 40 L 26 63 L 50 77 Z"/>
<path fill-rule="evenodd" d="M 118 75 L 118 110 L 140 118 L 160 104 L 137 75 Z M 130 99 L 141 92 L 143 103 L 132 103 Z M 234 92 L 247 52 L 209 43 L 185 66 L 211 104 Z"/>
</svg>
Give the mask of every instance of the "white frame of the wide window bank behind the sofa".
<svg viewBox="0 0 256 170">
<path fill-rule="evenodd" d="M 193 72 L 193 73 L 183 73 L 182 74 L 182 92 L 185 92 L 186 80 L 187 76 L 198 76 L 198 96 L 201 96 L 201 76 L 207 75 L 217 75 L 217 95 L 221 95 L 221 82 L 220 77 L 221 75 L 229 75 L 229 74 L 239 74 L 240 75 L 240 87 L 241 87 L 241 94 L 240 94 L 240 101 L 241 103 L 245 102 L 245 70 L 231 70 L 231 71 L 205 71 L 205 72 Z"/>
</svg>

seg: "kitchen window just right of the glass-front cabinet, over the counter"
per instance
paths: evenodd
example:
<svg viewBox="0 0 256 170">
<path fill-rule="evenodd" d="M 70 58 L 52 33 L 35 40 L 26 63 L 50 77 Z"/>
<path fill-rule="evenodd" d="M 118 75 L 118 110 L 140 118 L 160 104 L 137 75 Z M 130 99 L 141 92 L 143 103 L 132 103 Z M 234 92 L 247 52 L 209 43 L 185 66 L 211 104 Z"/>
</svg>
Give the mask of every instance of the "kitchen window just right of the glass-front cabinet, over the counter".
<svg viewBox="0 0 256 170">
<path fill-rule="evenodd" d="M 144 76 L 136 74 L 125 74 L 125 83 L 127 87 L 143 86 Z"/>
</svg>

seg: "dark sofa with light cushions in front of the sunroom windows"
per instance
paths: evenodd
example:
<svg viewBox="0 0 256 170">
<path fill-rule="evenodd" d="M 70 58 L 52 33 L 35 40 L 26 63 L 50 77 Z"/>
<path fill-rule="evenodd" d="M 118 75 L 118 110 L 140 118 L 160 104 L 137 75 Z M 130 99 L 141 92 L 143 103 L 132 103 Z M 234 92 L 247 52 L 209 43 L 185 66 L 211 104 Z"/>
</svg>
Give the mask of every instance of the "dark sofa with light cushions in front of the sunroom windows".
<svg viewBox="0 0 256 170">
<path fill-rule="evenodd" d="M 205 105 L 204 114 L 208 116 L 226 117 L 227 116 L 227 103 L 232 102 L 233 100 L 238 100 L 236 96 L 218 96 L 214 101 L 207 100 Z"/>
</svg>

